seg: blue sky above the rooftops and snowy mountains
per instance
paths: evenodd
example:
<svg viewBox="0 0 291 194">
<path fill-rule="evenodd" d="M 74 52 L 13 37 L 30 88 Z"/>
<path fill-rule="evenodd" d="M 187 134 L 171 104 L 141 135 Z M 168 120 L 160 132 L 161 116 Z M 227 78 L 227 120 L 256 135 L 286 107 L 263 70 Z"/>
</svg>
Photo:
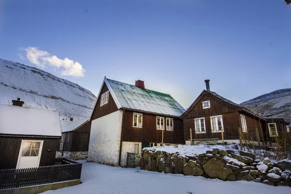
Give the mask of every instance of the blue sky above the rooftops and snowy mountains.
<svg viewBox="0 0 291 194">
<path fill-rule="evenodd" d="M 0 58 L 96 95 L 144 80 L 185 108 L 206 79 L 237 103 L 290 88 L 290 33 L 284 0 L 0 0 Z"/>
</svg>

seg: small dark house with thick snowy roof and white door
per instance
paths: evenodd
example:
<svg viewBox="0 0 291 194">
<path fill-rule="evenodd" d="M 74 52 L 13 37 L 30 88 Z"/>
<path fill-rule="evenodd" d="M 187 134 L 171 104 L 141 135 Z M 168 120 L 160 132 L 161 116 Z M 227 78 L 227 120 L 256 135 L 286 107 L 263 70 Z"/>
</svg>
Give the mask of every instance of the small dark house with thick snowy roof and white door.
<svg viewBox="0 0 291 194">
<path fill-rule="evenodd" d="M 14 104 L 0 105 L 0 169 L 54 165 L 61 139 L 59 112 Z"/>
</svg>

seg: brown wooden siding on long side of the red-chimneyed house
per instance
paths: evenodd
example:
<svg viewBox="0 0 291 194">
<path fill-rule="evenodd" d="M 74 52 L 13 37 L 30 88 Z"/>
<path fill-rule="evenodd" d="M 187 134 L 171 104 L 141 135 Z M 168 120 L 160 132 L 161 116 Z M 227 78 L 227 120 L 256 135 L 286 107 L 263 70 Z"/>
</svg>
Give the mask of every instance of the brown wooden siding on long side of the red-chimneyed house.
<svg viewBox="0 0 291 194">
<path fill-rule="evenodd" d="M 132 126 L 132 111 L 124 110 L 123 119 L 123 134 L 122 141 L 126 142 L 144 142 L 144 143 L 161 143 L 162 142 L 162 130 L 157 129 L 157 114 L 143 113 L 143 128 L 136 128 Z M 166 119 L 166 116 L 162 116 Z M 173 118 L 173 117 L 168 117 Z M 163 130 L 164 131 L 164 143 L 165 144 L 183 144 L 184 132 L 183 132 L 183 121 L 179 118 L 173 119 L 174 130 Z M 165 126 L 166 127 L 166 126 Z"/>
</svg>

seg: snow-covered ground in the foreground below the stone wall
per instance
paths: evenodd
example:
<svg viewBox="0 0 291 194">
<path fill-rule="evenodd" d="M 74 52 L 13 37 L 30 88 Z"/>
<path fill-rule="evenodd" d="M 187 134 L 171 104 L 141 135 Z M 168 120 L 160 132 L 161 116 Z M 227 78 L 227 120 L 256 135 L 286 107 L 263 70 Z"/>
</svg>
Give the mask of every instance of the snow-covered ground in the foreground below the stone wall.
<svg viewBox="0 0 291 194">
<path fill-rule="evenodd" d="M 85 162 L 82 184 L 45 194 L 290 194 L 290 187 L 148 172 Z"/>
</svg>

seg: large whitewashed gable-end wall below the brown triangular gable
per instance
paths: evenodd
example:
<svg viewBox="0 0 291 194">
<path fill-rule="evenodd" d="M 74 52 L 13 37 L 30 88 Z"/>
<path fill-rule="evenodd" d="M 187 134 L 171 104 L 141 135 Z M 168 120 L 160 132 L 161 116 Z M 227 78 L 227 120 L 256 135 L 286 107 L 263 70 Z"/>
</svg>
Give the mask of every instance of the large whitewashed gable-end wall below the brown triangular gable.
<svg viewBox="0 0 291 194">
<path fill-rule="evenodd" d="M 118 165 L 122 110 L 92 121 L 88 162 Z"/>
</svg>

